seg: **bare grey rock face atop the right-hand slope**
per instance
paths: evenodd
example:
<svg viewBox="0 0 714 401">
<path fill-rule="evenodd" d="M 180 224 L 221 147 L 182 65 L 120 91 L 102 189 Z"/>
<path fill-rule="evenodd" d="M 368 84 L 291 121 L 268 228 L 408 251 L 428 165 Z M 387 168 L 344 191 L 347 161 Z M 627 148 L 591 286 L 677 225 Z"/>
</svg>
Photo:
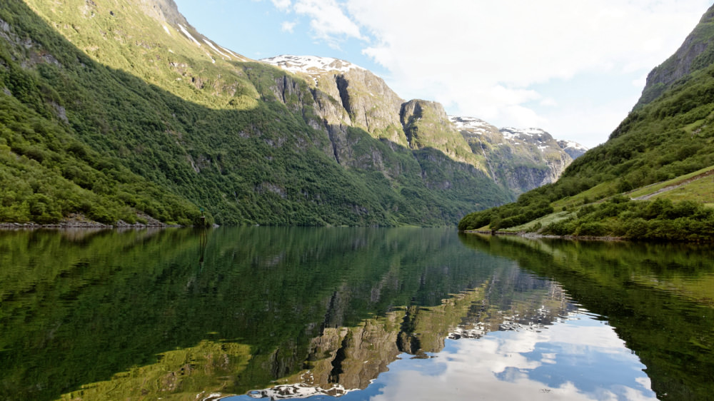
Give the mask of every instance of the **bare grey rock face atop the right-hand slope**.
<svg viewBox="0 0 714 401">
<path fill-rule="evenodd" d="M 655 100 L 680 78 L 712 64 L 714 62 L 712 39 L 714 39 L 714 6 L 704 13 L 699 24 L 675 54 L 650 71 L 642 96 L 633 109 Z"/>
</svg>

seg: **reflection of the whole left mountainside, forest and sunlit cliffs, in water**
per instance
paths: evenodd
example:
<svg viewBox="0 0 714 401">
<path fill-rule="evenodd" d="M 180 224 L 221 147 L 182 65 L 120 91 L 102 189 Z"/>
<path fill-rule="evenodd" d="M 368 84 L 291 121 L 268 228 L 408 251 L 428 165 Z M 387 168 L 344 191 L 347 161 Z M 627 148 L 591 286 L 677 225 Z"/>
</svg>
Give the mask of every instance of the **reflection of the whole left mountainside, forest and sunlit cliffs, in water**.
<svg viewBox="0 0 714 401">
<path fill-rule="evenodd" d="M 0 260 L 0 398 L 347 391 L 403 353 L 570 308 L 450 230 L 226 228 L 204 250 L 197 234 L 0 235 L 14 251 Z"/>
</svg>

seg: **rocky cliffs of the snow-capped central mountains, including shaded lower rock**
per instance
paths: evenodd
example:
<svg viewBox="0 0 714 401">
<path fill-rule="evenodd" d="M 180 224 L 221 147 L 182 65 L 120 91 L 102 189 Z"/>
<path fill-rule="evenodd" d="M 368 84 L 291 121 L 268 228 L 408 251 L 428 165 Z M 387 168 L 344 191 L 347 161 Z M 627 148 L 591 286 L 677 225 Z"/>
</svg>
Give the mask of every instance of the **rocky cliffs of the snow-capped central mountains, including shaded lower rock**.
<svg viewBox="0 0 714 401">
<path fill-rule="evenodd" d="M 434 179 L 425 163 L 445 166 L 441 156 L 462 163 L 456 170 L 485 174 L 513 194 L 522 193 L 558 179 L 570 161 L 586 148 L 570 141 L 556 142 L 549 133 L 531 128 L 503 128 L 469 117 L 449 117 L 440 103 L 413 99 L 403 101 L 381 78 L 348 61 L 315 56 L 277 56 L 262 59 L 303 78 L 311 87 L 316 119 L 311 126 L 323 129 L 331 138 L 338 163 L 358 168 L 373 168 L 388 176 L 401 173 L 385 169 L 384 158 L 376 149 L 356 156 L 356 139 L 348 128 L 363 128 L 387 143 L 404 146 L 415 153 L 422 176 L 430 188 L 451 188 L 448 179 Z M 278 79 L 273 91 L 283 102 L 294 97 L 296 81 Z M 287 93 L 286 93 L 287 91 Z M 304 99 L 301 99 L 304 103 Z M 303 116 L 307 113 L 303 113 Z M 425 153 L 426 152 L 426 153 Z M 448 167 L 453 171 L 455 166 Z M 453 176 L 453 173 L 451 174 Z"/>
</svg>

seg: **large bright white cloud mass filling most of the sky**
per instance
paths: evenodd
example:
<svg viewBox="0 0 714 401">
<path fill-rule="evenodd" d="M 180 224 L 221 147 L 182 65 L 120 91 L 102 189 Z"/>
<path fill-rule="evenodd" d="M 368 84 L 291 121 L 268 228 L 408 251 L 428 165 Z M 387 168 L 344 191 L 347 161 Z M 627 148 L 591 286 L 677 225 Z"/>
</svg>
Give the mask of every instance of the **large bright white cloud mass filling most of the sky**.
<svg viewBox="0 0 714 401">
<path fill-rule="evenodd" d="M 314 38 L 330 46 L 362 41 L 363 54 L 389 71 L 383 78 L 400 96 L 428 98 L 452 113 L 513 126 L 553 122 L 533 106 L 538 100 L 548 97 L 548 108 L 566 103 L 536 92 L 535 85 L 587 73 L 643 76 L 678 48 L 711 3 L 273 1 L 310 19 Z M 619 119 L 628 109 L 618 110 Z"/>
</svg>

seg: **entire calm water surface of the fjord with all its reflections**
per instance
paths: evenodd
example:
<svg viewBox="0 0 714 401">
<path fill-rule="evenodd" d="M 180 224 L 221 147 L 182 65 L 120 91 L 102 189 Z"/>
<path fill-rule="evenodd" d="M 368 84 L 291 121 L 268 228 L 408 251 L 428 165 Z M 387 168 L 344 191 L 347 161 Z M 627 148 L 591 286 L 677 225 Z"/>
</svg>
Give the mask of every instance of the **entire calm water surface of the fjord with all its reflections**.
<svg viewBox="0 0 714 401">
<path fill-rule="evenodd" d="M 709 246 L 0 231 L 0 399 L 707 400 Z"/>
</svg>

